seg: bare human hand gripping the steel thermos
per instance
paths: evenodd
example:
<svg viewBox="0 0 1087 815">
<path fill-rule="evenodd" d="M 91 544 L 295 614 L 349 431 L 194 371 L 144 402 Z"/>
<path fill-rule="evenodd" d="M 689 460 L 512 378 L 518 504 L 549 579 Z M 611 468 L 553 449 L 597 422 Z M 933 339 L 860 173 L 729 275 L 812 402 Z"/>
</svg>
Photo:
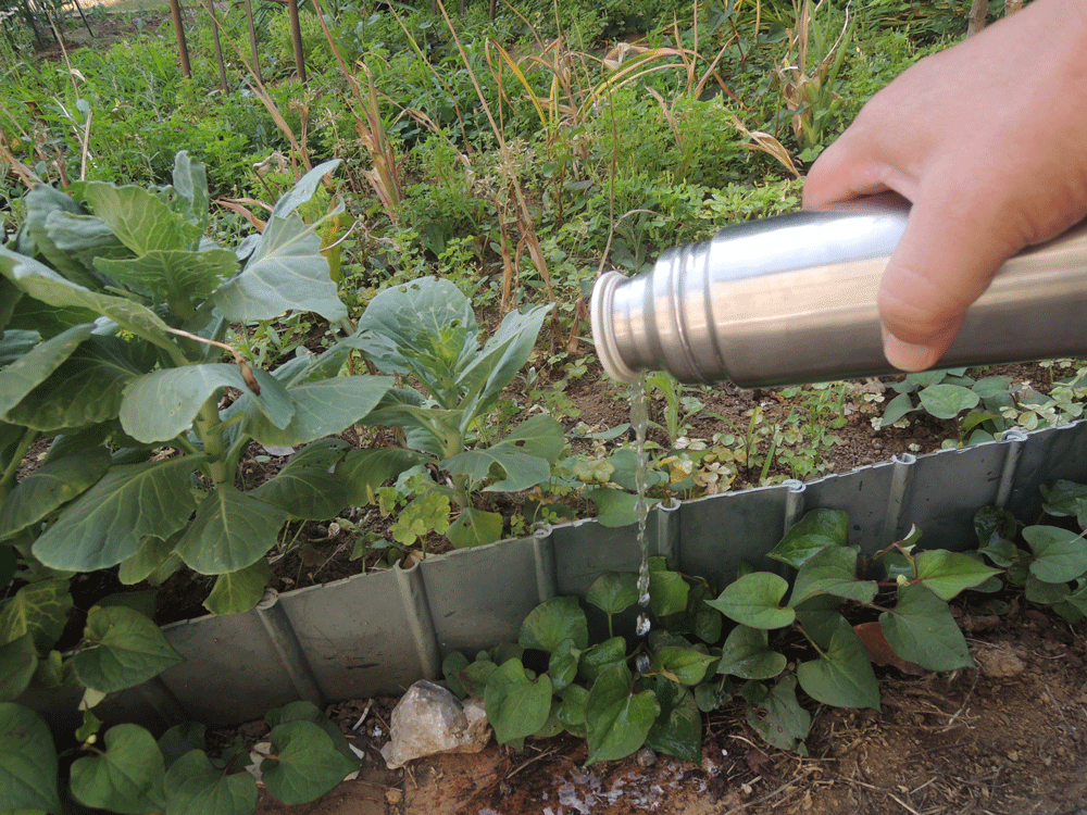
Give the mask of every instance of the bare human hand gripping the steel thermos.
<svg viewBox="0 0 1087 815">
<path fill-rule="evenodd" d="M 1087 216 L 1087 7 L 1035 0 L 903 72 L 812 165 L 804 206 L 913 208 L 879 287 L 884 353 L 935 365 L 1011 255 Z"/>
</svg>

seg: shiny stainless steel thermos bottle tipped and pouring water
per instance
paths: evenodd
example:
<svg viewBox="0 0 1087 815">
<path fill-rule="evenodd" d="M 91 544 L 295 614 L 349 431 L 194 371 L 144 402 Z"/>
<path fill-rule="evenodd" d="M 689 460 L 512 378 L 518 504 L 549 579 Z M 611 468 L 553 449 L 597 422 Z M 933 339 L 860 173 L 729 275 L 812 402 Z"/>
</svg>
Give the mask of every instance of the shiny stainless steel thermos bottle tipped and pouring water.
<svg viewBox="0 0 1087 815">
<path fill-rule="evenodd" d="M 876 291 L 909 214 L 877 196 L 727 227 L 633 278 L 608 272 L 592 292 L 597 355 L 620 381 L 660 369 L 745 387 L 898 373 Z M 1008 261 L 939 366 L 1085 353 L 1087 222 Z"/>
</svg>

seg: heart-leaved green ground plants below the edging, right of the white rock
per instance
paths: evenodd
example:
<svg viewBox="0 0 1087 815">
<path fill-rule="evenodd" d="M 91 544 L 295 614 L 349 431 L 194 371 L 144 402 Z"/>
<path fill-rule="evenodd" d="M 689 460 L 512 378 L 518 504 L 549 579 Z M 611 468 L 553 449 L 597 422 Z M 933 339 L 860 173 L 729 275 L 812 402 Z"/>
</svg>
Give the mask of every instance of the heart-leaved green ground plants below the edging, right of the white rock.
<svg viewBox="0 0 1087 815">
<path fill-rule="evenodd" d="M 1049 515 L 1087 526 L 1087 487 L 1055 481 L 1042 492 Z M 848 543 L 846 513 L 815 510 L 769 553 L 791 582 L 747 567 L 714 597 L 707 581 L 651 559 L 657 624 L 647 639 L 616 636 L 616 616 L 637 603 L 637 576 L 611 573 L 585 598 L 604 613 L 607 638 L 590 642 L 580 602 L 560 597 L 528 615 L 515 645 L 474 662 L 450 654 L 446 678 L 461 695 L 484 698 L 500 742 L 565 729 L 588 740 L 589 764 L 642 744 L 697 761 L 700 714 L 734 701 L 767 743 L 803 753 L 812 717 L 798 691 L 879 710 L 874 666 L 924 674 L 973 665 L 949 607 L 963 592 L 1000 611 L 992 592 L 1019 587 L 1070 623 L 1084 619 L 1083 536 L 1058 525 L 1021 529 L 998 507 L 980 510 L 974 527 L 974 551 L 922 551 L 914 528 L 866 556 Z"/>
</svg>

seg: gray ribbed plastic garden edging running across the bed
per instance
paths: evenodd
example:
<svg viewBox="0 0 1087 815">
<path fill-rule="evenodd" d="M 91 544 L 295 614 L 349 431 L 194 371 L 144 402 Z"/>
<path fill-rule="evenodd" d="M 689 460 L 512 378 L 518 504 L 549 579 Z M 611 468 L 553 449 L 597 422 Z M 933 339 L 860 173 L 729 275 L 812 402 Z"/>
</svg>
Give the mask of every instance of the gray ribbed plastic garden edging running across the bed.
<svg viewBox="0 0 1087 815">
<path fill-rule="evenodd" d="M 964 549 L 974 541 L 978 509 L 996 504 L 1020 518 L 1036 517 L 1039 486 L 1058 478 L 1087 479 L 1087 423 L 903 455 L 807 484 L 675 502 L 650 514 L 649 546 L 671 568 L 723 586 L 740 559 L 777 567 L 765 552 L 803 513 L 827 507 L 849 513 L 850 541 L 865 551 L 901 539 L 913 524 L 924 534 L 923 548 Z M 270 593 L 246 614 L 166 626 L 186 661 L 107 700 L 96 713 L 155 730 L 185 719 L 238 724 L 298 699 L 323 704 L 399 694 L 416 679 L 439 677 L 451 651 L 471 659 L 515 641 L 540 602 L 584 598 L 599 575 L 635 572 L 639 562 L 634 527 L 578 521 L 428 557 L 409 569 Z M 54 726 L 78 726 L 77 718 L 57 720 L 78 716 L 73 693 L 58 700 L 55 691 L 40 698 L 27 692 L 20 701 L 42 710 Z M 57 713 L 59 702 L 71 713 Z"/>
</svg>

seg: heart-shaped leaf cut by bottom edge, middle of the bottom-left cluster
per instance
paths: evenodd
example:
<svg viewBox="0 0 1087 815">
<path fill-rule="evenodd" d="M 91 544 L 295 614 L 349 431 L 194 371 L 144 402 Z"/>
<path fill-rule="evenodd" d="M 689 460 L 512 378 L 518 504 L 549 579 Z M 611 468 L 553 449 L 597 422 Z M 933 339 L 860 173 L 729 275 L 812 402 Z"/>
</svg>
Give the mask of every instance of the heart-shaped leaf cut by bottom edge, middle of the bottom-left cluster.
<svg viewBox="0 0 1087 815">
<path fill-rule="evenodd" d="M 190 750 L 171 764 L 164 789 L 166 815 L 252 815 L 257 811 L 253 777 L 216 769 L 203 750 Z"/>
</svg>

